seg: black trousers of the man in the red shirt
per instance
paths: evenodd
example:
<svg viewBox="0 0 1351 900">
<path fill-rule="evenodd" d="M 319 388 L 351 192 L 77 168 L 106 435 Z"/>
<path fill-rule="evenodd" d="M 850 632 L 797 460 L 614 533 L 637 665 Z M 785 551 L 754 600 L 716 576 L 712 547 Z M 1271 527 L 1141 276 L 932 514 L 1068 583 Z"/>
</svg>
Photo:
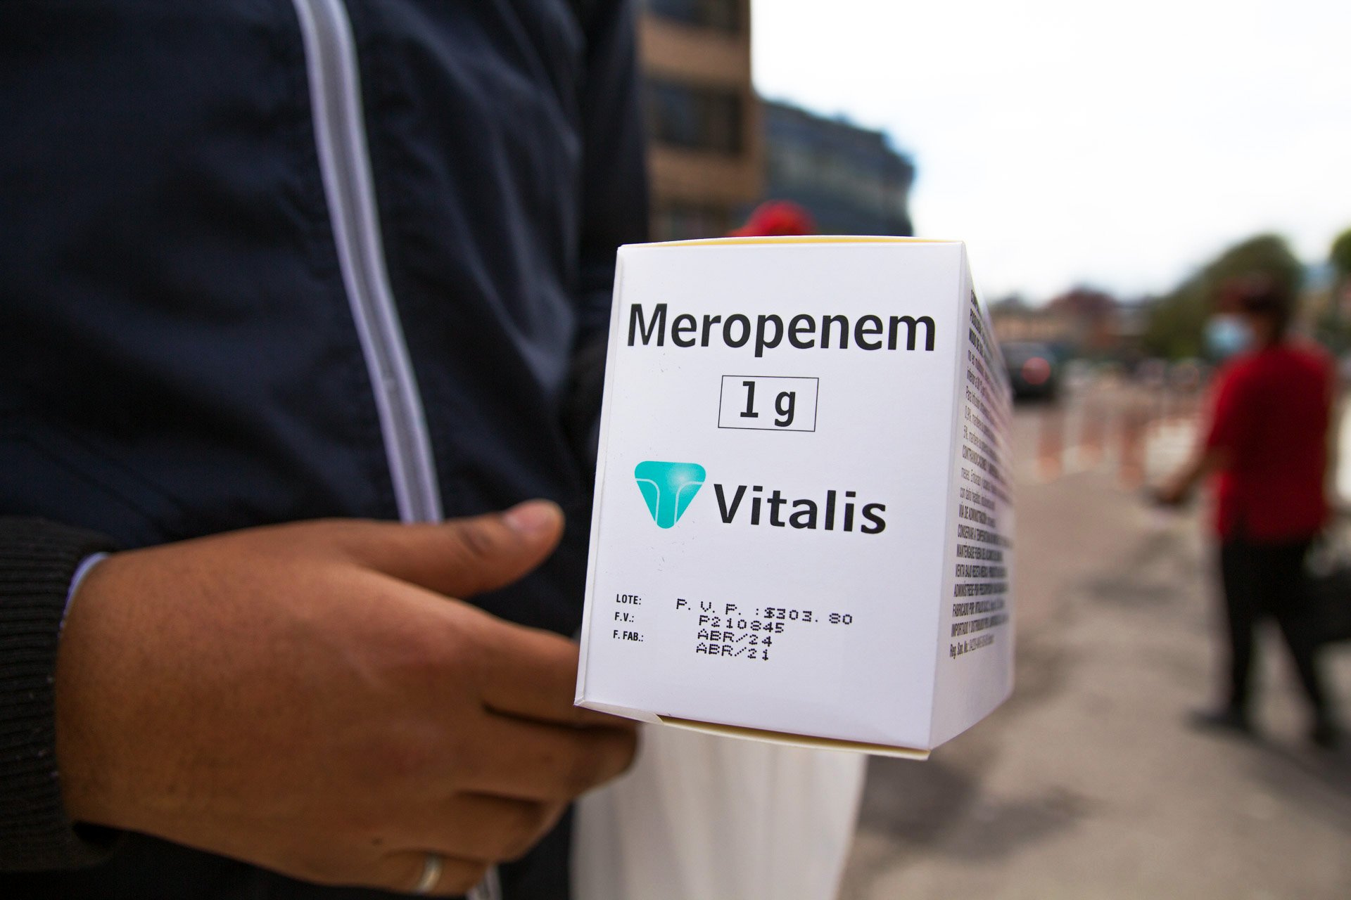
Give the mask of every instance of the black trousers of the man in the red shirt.
<svg viewBox="0 0 1351 900">
<path fill-rule="evenodd" d="M 1266 617 L 1281 626 L 1294 671 L 1316 719 L 1328 716 L 1328 695 L 1319 677 L 1315 629 L 1305 588 L 1304 557 L 1309 541 L 1254 544 L 1231 538 L 1220 545 L 1220 575 L 1229 637 L 1229 706 L 1247 712 L 1255 627 Z"/>
</svg>

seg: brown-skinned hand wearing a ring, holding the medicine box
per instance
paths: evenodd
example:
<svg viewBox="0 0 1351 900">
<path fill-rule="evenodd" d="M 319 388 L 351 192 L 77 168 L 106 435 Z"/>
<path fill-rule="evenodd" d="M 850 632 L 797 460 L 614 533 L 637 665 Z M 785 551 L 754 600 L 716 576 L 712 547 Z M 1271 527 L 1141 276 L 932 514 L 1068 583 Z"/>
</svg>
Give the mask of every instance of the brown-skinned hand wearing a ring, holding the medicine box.
<svg viewBox="0 0 1351 900">
<path fill-rule="evenodd" d="M 577 646 L 454 598 L 553 552 L 523 503 L 443 525 L 320 521 L 109 556 L 57 663 L 72 819 L 322 884 L 463 893 L 630 762 L 573 706 Z"/>
</svg>

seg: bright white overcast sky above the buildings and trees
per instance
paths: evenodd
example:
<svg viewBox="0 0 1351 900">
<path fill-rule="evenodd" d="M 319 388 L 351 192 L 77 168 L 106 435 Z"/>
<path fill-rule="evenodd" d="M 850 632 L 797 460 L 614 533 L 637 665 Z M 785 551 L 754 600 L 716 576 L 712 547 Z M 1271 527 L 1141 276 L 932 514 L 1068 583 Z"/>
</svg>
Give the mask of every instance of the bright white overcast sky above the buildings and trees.
<svg viewBox="0 0 1351 900">
<path fill-rule="evenodd" d="M 753 0 L 761 93 L 886 131 L 990 298 L 1163 291 L 1351 227 L 1347 0 Z"/>
</svg>

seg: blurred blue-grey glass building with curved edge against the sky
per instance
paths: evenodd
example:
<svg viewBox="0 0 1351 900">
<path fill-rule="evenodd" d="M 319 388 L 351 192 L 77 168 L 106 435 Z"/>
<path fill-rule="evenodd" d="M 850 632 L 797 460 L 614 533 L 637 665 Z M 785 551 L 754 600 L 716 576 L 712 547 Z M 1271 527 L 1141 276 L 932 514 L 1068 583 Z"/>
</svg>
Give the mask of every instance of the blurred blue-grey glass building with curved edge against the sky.
<svg viewBox="0 0 1351 900">
<path fill-rule="evenodd" d="M 766 100 L 765 196 L 792 200 L 827 235 L 912 235 L 915 165 L 881 131 Z"/>
</svg>

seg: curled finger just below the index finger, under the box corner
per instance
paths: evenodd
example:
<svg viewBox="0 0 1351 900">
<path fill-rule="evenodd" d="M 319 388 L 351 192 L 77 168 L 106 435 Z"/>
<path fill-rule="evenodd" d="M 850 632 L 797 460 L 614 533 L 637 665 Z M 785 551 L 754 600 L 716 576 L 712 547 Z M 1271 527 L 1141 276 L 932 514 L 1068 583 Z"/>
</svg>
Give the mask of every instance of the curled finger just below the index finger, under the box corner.
<svg viewBox="0 0 1351 900">
<path fill-rule="evenodd" d="M 488 716 L 480 725 L 490 756 L 463 765 L 465 791 L 519 800 L 573 800 L 628 768 L 638 746 L 630 729 L 574 729 Z"/>
</svg>

